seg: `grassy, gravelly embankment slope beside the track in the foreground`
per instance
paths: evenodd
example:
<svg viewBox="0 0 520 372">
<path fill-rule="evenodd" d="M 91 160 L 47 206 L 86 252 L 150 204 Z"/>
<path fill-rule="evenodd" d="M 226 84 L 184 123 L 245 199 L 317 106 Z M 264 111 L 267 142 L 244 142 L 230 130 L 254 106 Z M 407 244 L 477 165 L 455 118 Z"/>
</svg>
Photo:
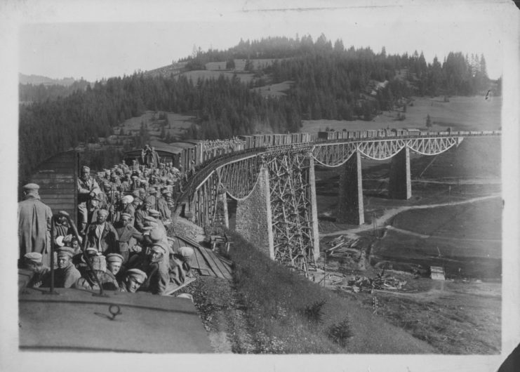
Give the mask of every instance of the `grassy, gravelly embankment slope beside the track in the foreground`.
<svg viewBox="0 0 520 372">
<path fill-rule="evenodd" d="M 239 234 L 233 280 L 199 277 L 192 293 L 215 350 L 236 353 L 432 354 L 424 340 L 270 260 Z"/>
</svg>

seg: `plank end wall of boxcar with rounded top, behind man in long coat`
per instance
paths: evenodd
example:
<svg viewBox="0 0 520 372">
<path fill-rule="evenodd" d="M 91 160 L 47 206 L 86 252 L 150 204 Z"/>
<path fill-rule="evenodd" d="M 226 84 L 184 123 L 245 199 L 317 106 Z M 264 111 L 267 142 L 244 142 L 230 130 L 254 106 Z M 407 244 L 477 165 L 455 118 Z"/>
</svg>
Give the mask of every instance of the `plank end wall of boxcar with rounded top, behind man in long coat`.
<svg viewBox="0 0 520 372">
<path fill-rule="evenodd" d="M 31 182 L 40 186 L 41 201 L 51 207 L 53 214 L 69 213 L 77 221 L 77 178 L 79 154 L 67 151 L 57 154 L 38 166 Z"/>
</svg>

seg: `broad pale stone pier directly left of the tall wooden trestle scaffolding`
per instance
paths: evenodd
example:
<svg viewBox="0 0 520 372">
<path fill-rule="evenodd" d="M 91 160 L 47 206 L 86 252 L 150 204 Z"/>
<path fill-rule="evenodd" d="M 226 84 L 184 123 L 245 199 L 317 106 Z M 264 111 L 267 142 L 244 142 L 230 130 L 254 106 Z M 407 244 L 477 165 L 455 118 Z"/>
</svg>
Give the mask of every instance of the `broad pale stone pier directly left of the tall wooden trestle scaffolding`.
<svg viewBox="0 0 520 372">
<path fill-rule="evenodd" d="M 274 260 L 269 173 L 260 168 L 258 182 L 245 200 L 236 203 L 236 232 Z"/>
</svg>

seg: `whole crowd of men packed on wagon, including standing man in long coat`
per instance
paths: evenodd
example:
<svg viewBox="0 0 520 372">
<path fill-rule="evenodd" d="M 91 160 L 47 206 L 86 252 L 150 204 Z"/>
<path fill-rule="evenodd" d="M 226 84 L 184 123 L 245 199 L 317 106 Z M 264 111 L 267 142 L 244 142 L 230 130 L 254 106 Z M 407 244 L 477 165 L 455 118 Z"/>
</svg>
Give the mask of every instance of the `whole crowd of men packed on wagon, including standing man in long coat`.
<svg viewBox="0 0 520 372">
<path fill-rule="evenodd" d="M 32 270 L 29 286 L 169 293 L 192 276 L 191 247 L 174 247 L 166 234 L 182 174 L 171 164 L 117 164 L 77 180 L 78 223 L 53 215 L 39 185 L 23 187 L 18 204 L 20 267 Z M 55 255 L 51 257 L 51 244 Z"/>
</svg>

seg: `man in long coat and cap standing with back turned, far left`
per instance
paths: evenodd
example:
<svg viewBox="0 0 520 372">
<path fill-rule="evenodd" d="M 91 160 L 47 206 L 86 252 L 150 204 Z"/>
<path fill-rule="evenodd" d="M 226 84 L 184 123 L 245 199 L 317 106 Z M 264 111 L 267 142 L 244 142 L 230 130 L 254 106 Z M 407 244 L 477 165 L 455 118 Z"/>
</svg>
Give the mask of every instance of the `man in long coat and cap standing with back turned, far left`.
<svg viewBox="0 0 520 372">
<path fill-rule="evenodd" d="M 50 265 L 53 212 L 40 200 L 39 188 L 36 183 L 25 185 L 25 199 L 18 203 L 18 258 L 25 253 L 38 252 L 43 255 L 43 263 Z"/>
</svg>

